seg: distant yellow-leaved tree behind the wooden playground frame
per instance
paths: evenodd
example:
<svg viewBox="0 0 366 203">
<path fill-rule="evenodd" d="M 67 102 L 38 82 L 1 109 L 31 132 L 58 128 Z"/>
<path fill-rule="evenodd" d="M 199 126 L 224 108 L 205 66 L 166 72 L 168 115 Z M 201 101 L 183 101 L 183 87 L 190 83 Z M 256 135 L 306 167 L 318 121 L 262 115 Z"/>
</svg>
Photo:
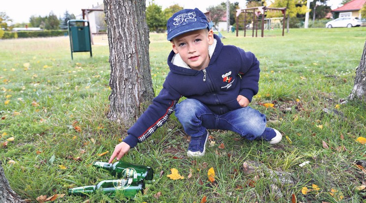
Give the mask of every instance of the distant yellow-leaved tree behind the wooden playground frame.
<svg viewBox="0 0 366 203">
<path fill-rule="evenodd" d="M 296 17 L 298 14 L 305 14 L 307 11 L 306 0 L 274 0 L 270 7 L 283 8 L 286 7 L 286 26 L 287 32 L 290 32 L 290 17 Z M 278 16 L 279 15 L 279 16 Z M 268 12 L 267 18 L 281 17 L 280 12 Z"/>
</svg>

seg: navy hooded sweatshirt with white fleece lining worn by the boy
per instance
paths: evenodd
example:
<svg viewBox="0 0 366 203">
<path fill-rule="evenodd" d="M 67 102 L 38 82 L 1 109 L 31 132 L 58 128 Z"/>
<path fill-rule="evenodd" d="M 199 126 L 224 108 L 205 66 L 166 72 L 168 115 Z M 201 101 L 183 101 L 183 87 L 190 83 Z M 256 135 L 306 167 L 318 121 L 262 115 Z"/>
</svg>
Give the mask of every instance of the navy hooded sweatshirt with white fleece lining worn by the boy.
<svg viewBox="0 0 366 203">
<path fill-rule="evenodd" d="M 123 142 L 133 148 L 145 141 L 167 121 L 181 97 L 201 101 L 219 115 L 242 108 L 237 101 L 238 95 L 252 100 L 258 93 L 259 61 L 251 52 L 232 45 L 224 46 L 217 35 L 214 35 L 214 39 L 216 46 L 211 53 L 209 66 L 201 71 L 174 65 L 172 59 L 175 53 L 170 52 L 170 72 L 163 88 L 128 129 Z"/>
</svg>

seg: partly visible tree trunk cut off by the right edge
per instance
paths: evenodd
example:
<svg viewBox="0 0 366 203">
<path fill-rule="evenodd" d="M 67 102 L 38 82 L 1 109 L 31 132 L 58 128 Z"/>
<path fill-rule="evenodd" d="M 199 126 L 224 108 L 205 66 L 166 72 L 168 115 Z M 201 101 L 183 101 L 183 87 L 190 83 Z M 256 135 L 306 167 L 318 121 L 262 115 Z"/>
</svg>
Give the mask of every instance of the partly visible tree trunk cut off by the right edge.
<svg viewBox="0 0 366 203">
<path fill-rule="evenodd" d="M 356 70 L 355 84 L 353 86 L 352 93 L 348 97 L 350 100 L 354 100 L 356 98 L 366 102 L 366 41 L 360 65 Z"/>
</svg>

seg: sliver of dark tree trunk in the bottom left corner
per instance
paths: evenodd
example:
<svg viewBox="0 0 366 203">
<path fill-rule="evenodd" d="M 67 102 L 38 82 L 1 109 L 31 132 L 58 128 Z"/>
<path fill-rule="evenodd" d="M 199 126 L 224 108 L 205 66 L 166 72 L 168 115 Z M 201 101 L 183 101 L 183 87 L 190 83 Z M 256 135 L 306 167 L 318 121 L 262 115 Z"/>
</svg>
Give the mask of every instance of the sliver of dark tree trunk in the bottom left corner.
<svg viewBox="0 0 366 203">
<path fill-rule="evenodd" d="M 25 203 L 15 192 L 10 188 L 9 182 L 5 177 L 4 169 L 0 161 L 0 203 Z"/>
</svg>

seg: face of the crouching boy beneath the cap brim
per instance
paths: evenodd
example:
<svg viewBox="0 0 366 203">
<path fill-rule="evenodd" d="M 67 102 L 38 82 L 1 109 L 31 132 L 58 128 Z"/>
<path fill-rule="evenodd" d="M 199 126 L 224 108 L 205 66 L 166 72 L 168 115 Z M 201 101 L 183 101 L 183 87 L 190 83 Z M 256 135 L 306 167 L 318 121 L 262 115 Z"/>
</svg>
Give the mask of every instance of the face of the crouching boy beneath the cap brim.
<svg viewBox="0 0 366 203">
<path fill-rule="evenodd" d="M 197 71 L 205 69 L 210 62 L 209 45 L 213 44 L 213 30 L 199 29 L 179 35 L 172 40 L 173 51 Z"/>
</svg>

